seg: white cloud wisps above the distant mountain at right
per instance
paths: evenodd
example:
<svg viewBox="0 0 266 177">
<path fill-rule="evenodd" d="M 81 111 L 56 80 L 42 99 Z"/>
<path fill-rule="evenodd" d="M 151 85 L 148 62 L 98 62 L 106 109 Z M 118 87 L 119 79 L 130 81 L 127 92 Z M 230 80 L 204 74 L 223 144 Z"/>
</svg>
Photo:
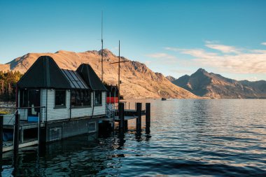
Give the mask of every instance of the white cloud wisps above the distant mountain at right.
<svg viewBox="0 0 266 177">
<path fill-rule="evenodd" d="M 220 52 L 207 52 L 204 49 L 165 48 L 193 57 L 193 65 L 216 68 L 228 73 L 266 73 L 266 51 L 244 50 L 229 45 L 206 44 L 207 48 Z"/>
</svg>

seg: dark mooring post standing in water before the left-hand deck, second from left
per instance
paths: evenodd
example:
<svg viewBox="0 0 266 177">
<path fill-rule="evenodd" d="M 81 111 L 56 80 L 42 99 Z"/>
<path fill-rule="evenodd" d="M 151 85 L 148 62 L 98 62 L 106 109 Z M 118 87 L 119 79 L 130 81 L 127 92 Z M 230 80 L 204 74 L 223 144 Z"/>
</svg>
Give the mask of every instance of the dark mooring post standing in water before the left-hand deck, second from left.
<svg viewBox="0 0 266 177">
<path fill-rule="evenodd" d="M 14 127 L 14 144 L 13 144 L 13 160 L 14 164 L 18 164 L 18 146 L 20 144 L 20 115 L 18 110 L 15 112 L 15 127 Z"/>
</svg>

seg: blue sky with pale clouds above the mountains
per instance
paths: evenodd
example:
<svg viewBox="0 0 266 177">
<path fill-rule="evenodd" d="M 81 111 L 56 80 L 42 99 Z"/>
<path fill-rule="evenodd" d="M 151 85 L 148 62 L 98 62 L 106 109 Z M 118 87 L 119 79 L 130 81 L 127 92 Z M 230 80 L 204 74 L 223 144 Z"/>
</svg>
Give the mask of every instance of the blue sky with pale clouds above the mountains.
<svg viewBox="0 0 266 177">
<path fill-rule="evenodd" d="M 203 68 L 266 80 L 266 1 L 0 0 L 0 63 L 29 52 L 104 48 L 179 78 Z"/>
</svg>

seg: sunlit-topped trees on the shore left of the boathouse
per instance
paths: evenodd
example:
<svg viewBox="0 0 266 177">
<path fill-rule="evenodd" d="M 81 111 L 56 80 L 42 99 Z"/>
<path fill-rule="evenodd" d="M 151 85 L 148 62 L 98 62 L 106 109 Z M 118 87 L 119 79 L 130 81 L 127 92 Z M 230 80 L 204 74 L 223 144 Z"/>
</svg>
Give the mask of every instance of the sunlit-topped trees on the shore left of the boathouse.
<svg viewBox="0 0 266 177">
<path fill-rule="evenodd" d="M 0 71 L 0 100 L 15 101 L 15 85 L 22 76 L 20 71 Z"/>
</svg>

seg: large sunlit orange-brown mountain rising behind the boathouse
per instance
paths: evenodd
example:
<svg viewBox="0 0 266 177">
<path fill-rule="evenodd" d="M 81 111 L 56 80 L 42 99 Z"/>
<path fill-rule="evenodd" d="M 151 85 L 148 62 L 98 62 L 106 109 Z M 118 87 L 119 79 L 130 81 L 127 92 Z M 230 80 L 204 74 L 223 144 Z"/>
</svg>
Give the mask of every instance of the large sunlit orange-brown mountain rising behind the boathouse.
<svg viewBox="0 0 266 177">
<path fill-rule="evenodd" d="M 92 50 L 86 52 L 69 52 L 59 50 L 55 53 L 28 53 L 22 57 L 13 59 L 7 64 L 0 64 L 0 70 L 20 71 L 25 73 L 41 55 L 48 55 L 55 59 L 55 62 L 62 69 L 76 70 L 82 63 L 88 63 L 101 78 L 102 50 Z M 104 82 L 116 85 L 118 83 L 118 57 L 111 51 L 103 50 L 104 55 Z M 125 57 L 120 57 L 123 63 L 120 64 L 120 93 L 125 98 L 198 98 L 195 94 L 172 84 L 162 73 L 154 73 L 145 64 L 131 61 Z"/>
</svg>

